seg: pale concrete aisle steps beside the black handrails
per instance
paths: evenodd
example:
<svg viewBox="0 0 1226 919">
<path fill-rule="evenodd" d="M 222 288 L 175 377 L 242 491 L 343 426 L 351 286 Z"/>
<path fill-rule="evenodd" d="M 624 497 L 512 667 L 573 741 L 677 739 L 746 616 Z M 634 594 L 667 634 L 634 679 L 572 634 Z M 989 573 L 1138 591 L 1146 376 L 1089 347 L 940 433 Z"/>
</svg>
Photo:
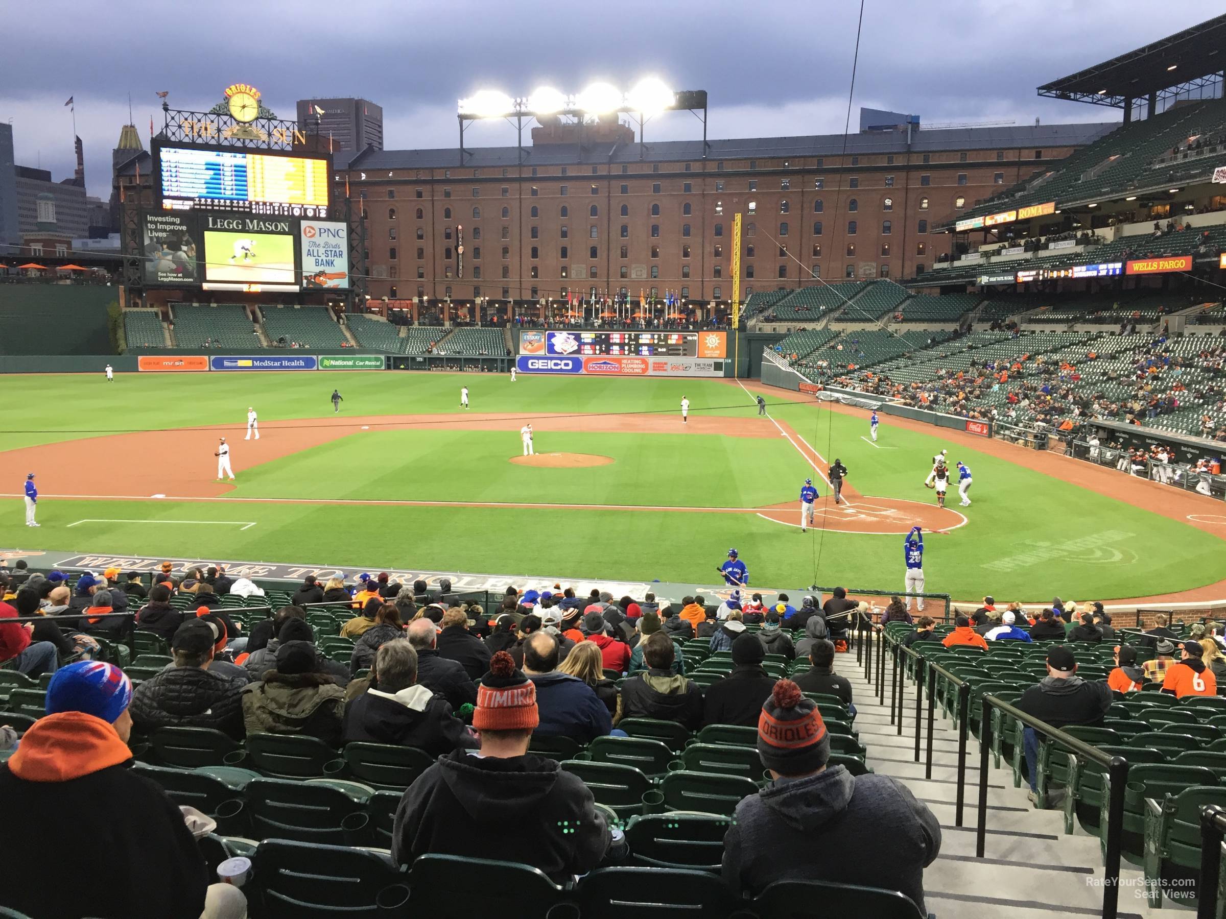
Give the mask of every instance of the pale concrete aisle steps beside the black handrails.
<svg viewBox="0 0 1226 919">
<path fill-rule="evenodd" d="M 873 648 L 874 659 L 877 647 Z M 875 665 L 874 665 L 875 669 Z M 933 724 L 932 778 L 924 778 L 928 743 L 923 701 L 921 760 L 915 761 L 915 683 L 906 681 L 902 734 L 890 723 L 890 668 L 885 668 L 885 705 L 864 679 L 856 656 L 839 654 L 835 671 L 852 684 L 856 730 L 868 750 L 866 762 L 877 773 L 893 776 L 928 805 L 940 821 L 942 844 L 937 860 L 924 870 L 924 901 L 939 919 L 1052 919 L 1102 915 L 1103 868 L 1098 838 L 1064 833 L 1063 812 L 1035 810 L 1026 785 L 1013 787 L 1009 763 L 992 768 L 988 778 L 988 816 L 984 858 L 975 855 L 980 745 L 966 744 L 966 788 L 962 826 L 955 826 L 958 799 L 958 725 L 942 717 Z M 879 858 L 889 859 L 889 844 Z M 1163 901 L 1162 910 L 1145 901 L 1139 866 L 1121 864 L 1119 918 L 1156 919 L 1190 917 L 1193 910 Z"/>
</svg>

